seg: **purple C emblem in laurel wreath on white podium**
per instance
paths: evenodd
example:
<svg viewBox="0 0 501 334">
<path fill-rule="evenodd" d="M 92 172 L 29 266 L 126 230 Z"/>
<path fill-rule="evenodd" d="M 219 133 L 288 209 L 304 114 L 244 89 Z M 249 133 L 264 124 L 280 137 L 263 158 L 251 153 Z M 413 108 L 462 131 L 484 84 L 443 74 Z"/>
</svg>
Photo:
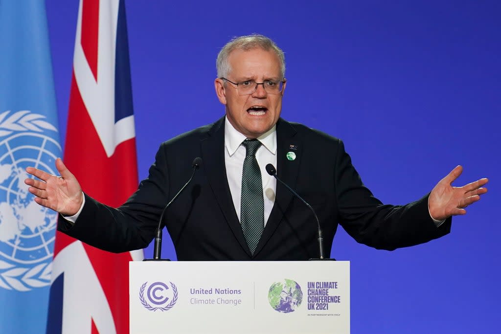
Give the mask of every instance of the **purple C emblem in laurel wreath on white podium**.
<svg viewBox="0 0 501 334">
<path fill-rule="evenodd" d="M 171 309 L 177 301 L 177 287 L 172 282 L 169 282 L 169 285 L 164 282 L 153 282 L 148 285 L 148 282 L 145 282 L 139 288 L 139 301 L 150 311 Z"/>
</svg>

